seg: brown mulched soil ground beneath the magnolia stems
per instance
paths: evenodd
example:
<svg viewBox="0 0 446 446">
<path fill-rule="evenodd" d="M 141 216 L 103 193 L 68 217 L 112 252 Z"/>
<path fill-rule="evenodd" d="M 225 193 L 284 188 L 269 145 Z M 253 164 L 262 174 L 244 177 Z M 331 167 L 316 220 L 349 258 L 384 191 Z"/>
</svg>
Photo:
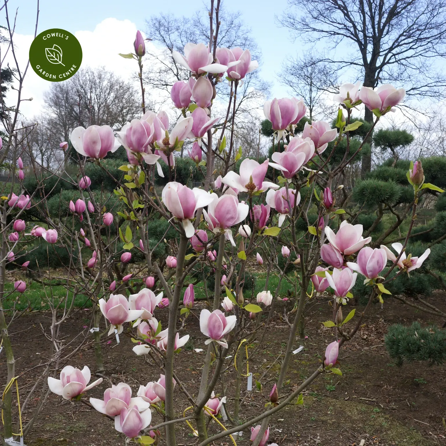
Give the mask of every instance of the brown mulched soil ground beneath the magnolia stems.
<svg viewBox="0 0 446 446">
<path fill-rule="evenodd" d="M 446 293 L 437 292 L 427 300 L 446 311 Z M 292 303 L 288 303 L 288 306 Z M 200 307 L 194 309 L 199 314 Z M 347 306 L 344 315 L 351 308 Z M 275 361 L 281 351 L 285 351 L 288 327 L 280 314 L 278 305 L 272 327 L 265 337 L 263 349 L 250 361 L 249 368 L 254 378 L 260 380 L 267 368 Z M 302 380 L 309 376 L 320 364 L 325 347 L 333 341 L 333 330 L 323 327 L 320 322 L 330 318 L 331 308 L 326 301 L 314 301 L 306 315 L 306 335 L 304 351 L 293 355 L 288 378 L 289 383 L 283 393 L 288 394 Z M 157 310 L 156 316 L 163 328 L 167 326 L 167 311 Z M 72 339 L 80 331 L 87 335 L 87 345 L 74 355 L 70 364 L 82 368 L 88 365 L 95 370 L 95 356 L 92 349 L 92 335 L 87 333 L 90 326 L 91 310 L 76 310 L 73 317 L 62 327 L 62 336 Z M 395 299 L 385 301 L 384 308 L 373 306 L 366 319 L 366 325 L 349 343 L 344 344 L 339 354 L 340 369 L 343 376 L 326 374 L 313 381 L 304 392 L 303 405 L 293 404 L 270 419 L 268 443 L 279 445 L 356 445 L 365 439 L 365 445 L 405 445 L 429 446 L 446 444 L 446 430 L 442 418 L 446 417 L 446 371 L 443 366 L 430 366 L 428 363 L 404 364 L 398 368 L 388 356 L 384 347 L 387 327 L 394 323 L 410 325 L 413 320 L 422 324 L 434 323 L 441 326 L 444 321 L 429 314 L 414 312 Z M 50 315 L 45 312 L 28 313 L 12 323 L 12 335 L 16 357 L 16 374 L 45 362 L 49 351 L 49 341 L 41 332 L 41 326 L 49 330 Z M 190 334 L 192 342 L 183 348 L 175 358 L 175 370 L 186 385 L 190 394 L 195 395 L 201 376 L 200 367 L 204 352 L 196 353 L 193 348 L 206 348 L 200 333 L 198 318 L 190 315 L 185 333 Z M 160 369 L 144 357 L 131 351 L 133 343 L 129 336 L 121 335 L 120 344 L 114 337 L 103 340 L 103 357 L 107 368 L 107 378 L 113 384 L 120 381 L 128 383 L 136 396 L 139 384 L 156 381 Z M 111 343 L 108 341 L 111 340 Z M 255 344 L 252 344 L 254 346 Z M 298 339 L 295 348 L 299 345 Z M 74 347 L 73 347 L 74 348 Z M 233 361 L 228 359 L 228 363 Z M 6 360 L 0 354 L 0 382 L 6 380 Z M 248 420 L 264 410 L 269 401 L 269 391 L 277 379 L 280 363 L 276 362 L 269 372 L 261 378 L 263 391 L 246 392 L 246 378 L 243 378 L 242 395 L 245 403 L 240 409 L 240 422 Z M 23 391 L 32 387 L 38 376 L 38 368 L 21 376 L 19 386 Z M 92 373 L 94 374 L 94 372 Z M 232 365 L 225 374 L 228 408 L 232 409 L 235 370 Z M 92 378 L 93 379 L 93 378 Z M 88 392 L 88 396 L 103 397 L 109 387 L 103 384 Z M 221 391 L 218 386 L 217 391 Z M 176 413 L 182 417 L 183 410 L 189 405 L 183 394 L 175 388 Z M 36 394 L 36 397 L 38 393 Z M 26 421 L 31 415 L 37 398 L 31 402 L 23 414 Z M 161 422 L 161 416 L 153 413 L 153 424 Z M 229 422 L 226 423 L 229 426 Z M 219 432 L 219 426 L 212 421 L 210 433 Z M 185 423 L 177 425 L 178 445 L 194 445 L 196 438 L 191 435 Z M 237 445 L 249 445 L 250 432 L 235 436 Z M 78 402 L 65 401 L 62 397 L 50 394 L 45 407 L 34 425 L 33 431 L 25 438 L 28 446 L 82 445 L 105 446 L 124 445 L 124 436 L 115 431 L 112 421 L 93 409 Z M 160 444 L 163 443 L 161 438 Z M 229 438 L 223 438 L 217 445 L 231 445 Z"/>
</svg>

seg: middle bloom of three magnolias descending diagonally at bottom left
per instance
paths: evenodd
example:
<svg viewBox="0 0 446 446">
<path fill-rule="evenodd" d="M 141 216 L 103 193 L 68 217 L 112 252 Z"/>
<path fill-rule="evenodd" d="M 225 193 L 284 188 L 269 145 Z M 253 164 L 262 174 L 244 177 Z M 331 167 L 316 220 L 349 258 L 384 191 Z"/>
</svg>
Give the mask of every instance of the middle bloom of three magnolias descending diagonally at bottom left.
<svg viewBox="0 0 446 446">
<path fill-rule="evenodd" d="M 104 392 L 104 399 L 90 398 L 90 404 L 99 413 L 116 417 L 121 413 L 123 408 L 128 409 L 138 405 L 139 410 L 149 408 L 149 404 L 140 397 L 132 398 L 132 389 L 128 384 L 119 383 L 116 386 L 112 385 Z"/>
</svg>

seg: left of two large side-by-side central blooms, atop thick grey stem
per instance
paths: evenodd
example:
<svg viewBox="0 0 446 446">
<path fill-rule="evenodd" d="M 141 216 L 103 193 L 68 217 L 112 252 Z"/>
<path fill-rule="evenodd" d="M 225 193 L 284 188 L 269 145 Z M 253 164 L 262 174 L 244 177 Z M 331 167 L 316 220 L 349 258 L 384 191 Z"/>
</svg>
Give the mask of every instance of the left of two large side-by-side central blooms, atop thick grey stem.
<svg viewBox="0 0 446 446">
<path fill-rule="evenodd" d="M 212 195 L 205 190 L 189 189 L 177 182 L 169 182 L 165 185 L 161 198 L 167 209 L 174 217 L 182 220 L 186 237 L 192 237 L 195 234 L 195 228 L 191 219 L 194 218 L 195 211 L 212 202 Z"/>
</svg>

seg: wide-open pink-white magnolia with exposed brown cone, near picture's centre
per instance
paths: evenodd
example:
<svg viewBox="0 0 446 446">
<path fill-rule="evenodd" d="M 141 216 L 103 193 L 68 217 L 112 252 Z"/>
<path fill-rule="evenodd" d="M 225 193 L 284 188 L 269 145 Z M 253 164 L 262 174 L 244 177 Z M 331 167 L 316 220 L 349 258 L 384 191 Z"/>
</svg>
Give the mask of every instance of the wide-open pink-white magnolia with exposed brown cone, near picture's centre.
<svg viewBox="0 0 446 446">
<path fill-rule="evenodd" d="M 267 170 L 268 160 L 259 164 L 256 160 L 245 158 L 240 164 L 240 175 L 231 170 L 222 178 L 222 183 L 249 194 L 268 188 L 277 189 L 277 184 L 264 181 Z"/>
</svg>

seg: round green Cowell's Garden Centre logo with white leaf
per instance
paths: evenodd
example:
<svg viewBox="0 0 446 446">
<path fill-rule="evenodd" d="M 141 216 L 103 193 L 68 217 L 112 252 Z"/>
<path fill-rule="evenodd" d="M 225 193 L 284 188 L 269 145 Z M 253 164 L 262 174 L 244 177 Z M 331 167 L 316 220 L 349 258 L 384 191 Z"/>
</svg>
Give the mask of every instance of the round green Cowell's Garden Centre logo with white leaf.
<svg viewBox="0 0 446 446">
<path fill-rule="evenodd" d="M 69 79 L 81 62 L 81 44 L 65 29 L 47 29 L 33 40 L 29 48 L 29 63 L 33 70 L 50 82 Z"/>
</svg>

